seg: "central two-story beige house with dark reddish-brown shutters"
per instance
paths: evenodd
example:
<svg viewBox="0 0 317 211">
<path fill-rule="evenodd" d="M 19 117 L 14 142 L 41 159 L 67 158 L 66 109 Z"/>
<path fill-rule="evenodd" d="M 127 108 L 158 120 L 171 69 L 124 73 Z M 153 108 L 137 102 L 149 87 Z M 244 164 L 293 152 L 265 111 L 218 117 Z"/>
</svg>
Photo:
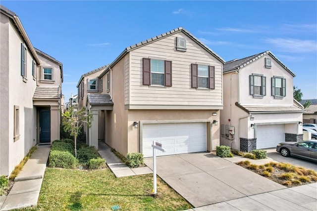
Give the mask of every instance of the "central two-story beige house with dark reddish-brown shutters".
<svg viewBox="0 0 317 211">
<path fill-rule="evenodd" d="M 166 149 L 159 155 L 215 150 L 223 63 L 183 28 L 125 48 L 99 75 L 103 91 L 87 95 L 89 144 L 98 147 L 103 111 L 105 142 L 123 155 L 151 157 L 153 141 Z"/>
</svg>

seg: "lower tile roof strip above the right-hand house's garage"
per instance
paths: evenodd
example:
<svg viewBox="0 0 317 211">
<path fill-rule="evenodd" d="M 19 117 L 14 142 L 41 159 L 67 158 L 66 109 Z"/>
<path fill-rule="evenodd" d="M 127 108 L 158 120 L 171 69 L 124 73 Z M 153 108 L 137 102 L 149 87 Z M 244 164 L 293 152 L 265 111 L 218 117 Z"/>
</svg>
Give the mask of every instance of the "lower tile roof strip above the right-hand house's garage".
<svg viewBox="0 0 317 211">
<path fill-rule="evenodd" d="M 291 113 L 304 112 L 305 110 L 296 105 L 241 105 L 238 102 L 236 106 L 249 114 L 254 113 Z"/>
</svg>

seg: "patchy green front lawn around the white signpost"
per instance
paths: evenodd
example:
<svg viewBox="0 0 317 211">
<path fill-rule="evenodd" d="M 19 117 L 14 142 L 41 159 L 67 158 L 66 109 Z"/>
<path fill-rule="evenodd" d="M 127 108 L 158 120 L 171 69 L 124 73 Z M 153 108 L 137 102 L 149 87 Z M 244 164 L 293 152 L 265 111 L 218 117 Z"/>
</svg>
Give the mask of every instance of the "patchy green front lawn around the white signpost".
<svg viewBox="0 0 317 211">
<path fill-rule="evenodd" d="M 152 196 L 153 174 L 116 178 L 109 169 L 47 168 L 38 206 L 34 210 L 106 211 L 187 210 L 192 206 L 158 178 L 157 198 Z"/>
</svg>

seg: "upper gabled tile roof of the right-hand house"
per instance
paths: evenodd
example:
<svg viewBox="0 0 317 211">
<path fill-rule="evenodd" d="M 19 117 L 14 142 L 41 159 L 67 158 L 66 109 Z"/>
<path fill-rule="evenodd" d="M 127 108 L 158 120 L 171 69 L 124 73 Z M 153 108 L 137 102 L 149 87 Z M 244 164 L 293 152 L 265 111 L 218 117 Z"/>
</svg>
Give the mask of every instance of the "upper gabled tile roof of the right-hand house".
<svg viewBox="0 0 317 211">
<path fill-rule="evenodd" d="M 280 65 L 282 65 L 293 77 L 295 77 L 295 74 L 288 69 L 288 67 L 286 67 L 280 60 L 278 60 L 276 58 L 276 56 L 271 53 L 269 50 L 264 51 L 262 53 L 258 53 L 252 56 L 248 56 L 245 57 L 243 59 L 233 59 L 231 61 L 227 61 L 224 65 L 223 65 L 223 73 L 225 72 L 229 72 L 229 71 L 233 71 L 233 70 L 240 70 L 242 68 L 244 68 L 245 66 L 247 66 L 248 64 L 251 64 L 252 62 L 258 60 L 259 58 L 263 57 L 264 55 L 269 54 L 270 56 L 272 56 Z"/>
</svg>

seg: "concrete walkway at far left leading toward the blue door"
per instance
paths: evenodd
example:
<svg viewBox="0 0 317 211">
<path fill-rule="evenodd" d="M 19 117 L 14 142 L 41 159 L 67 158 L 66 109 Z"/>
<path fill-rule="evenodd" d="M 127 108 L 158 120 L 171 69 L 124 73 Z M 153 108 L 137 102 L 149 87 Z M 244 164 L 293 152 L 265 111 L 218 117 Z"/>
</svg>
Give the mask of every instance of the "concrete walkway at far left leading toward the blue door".
<svg viewBox="0 0 317 211">
<path fill-rule="evenodd" d="M 39 145 L 26 162 L 9 194 L 0 197 L 0 211 L 36 206 L 51 145 Z"/>
</svg>

